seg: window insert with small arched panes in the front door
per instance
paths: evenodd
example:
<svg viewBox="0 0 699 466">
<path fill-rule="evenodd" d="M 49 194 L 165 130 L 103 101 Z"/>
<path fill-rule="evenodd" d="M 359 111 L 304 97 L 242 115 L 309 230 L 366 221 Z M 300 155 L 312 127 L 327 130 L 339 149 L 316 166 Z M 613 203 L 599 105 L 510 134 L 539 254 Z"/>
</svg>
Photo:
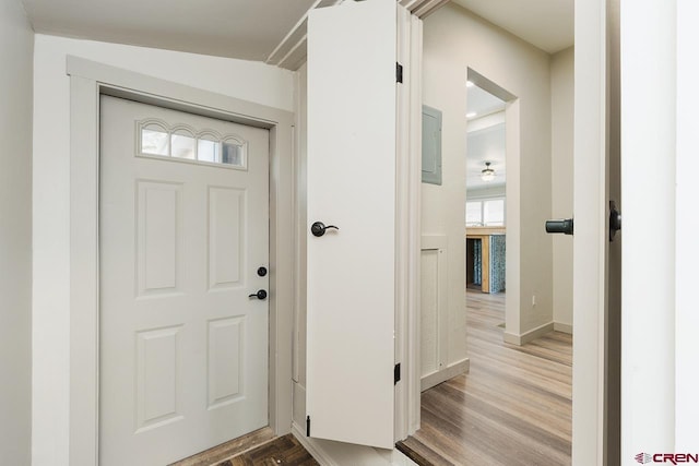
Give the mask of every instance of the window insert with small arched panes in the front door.
<svg viewBox="0 0 699 466">
<path fill-rule="evenodd" d="M 247 169 L 248 143 L 239 136 L 155 119 L 138 121 L 137 128 L 138 156 Z"/>
</svg>

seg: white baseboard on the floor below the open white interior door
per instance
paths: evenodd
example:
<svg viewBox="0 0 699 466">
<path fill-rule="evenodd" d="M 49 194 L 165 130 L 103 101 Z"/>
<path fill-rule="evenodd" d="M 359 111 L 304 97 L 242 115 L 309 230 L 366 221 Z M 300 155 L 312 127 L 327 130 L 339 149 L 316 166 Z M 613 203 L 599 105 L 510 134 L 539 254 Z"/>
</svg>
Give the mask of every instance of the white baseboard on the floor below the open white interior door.
<svg viewBox="0 0 699 466">
<path fill-rule="evenodd" d="M 292 433 L 322 466 L 417 466 L 395 449 L 377 450 L 306 437 L 304 429 L 296 422 L 292 423 Z"/>
</svg>

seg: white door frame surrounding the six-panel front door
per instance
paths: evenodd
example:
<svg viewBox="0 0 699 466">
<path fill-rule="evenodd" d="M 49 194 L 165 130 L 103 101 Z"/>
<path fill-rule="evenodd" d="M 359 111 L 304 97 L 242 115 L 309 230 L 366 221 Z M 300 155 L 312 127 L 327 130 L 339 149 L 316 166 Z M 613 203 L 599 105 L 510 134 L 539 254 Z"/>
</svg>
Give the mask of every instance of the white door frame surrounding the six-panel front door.
<svg viewBox="0 0 699 466">
<path fill-rule="evenodd" d="M 69 463 L 98 463 L 99 95 L 193 111 L 270 130 L 270 427 L 292 425 L 294 115 L 69 56 L 70 431 Z"/>
</svg>

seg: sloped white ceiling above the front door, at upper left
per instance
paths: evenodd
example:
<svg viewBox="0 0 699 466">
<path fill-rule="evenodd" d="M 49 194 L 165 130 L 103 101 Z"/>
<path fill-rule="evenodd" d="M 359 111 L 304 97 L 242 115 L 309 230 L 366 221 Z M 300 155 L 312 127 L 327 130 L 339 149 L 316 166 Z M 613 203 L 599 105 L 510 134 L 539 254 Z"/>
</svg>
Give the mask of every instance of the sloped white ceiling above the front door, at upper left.
<svg viewBox="0 0 699 466">
<path fill-rule="evenodd" d="M 264 61 L 315 0 L 23 0 L 34 31 Z"/>
</svg>

